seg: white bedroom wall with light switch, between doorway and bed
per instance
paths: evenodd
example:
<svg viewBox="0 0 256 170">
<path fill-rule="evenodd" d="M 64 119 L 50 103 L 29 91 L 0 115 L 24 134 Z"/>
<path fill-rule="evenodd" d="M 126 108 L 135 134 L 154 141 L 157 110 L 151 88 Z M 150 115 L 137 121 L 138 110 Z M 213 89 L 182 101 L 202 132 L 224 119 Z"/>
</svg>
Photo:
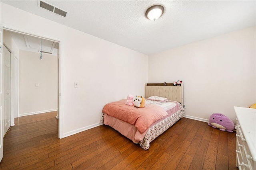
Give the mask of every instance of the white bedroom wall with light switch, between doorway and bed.
<svg viewBox="0 0 256 170">
<path fill-rule="evenodd" d="M 144 95 L 147 55 L 0 3 L 2 26 L 60 41 L 64 137 L 99 125 L 106 103 Z"/>
</svg>

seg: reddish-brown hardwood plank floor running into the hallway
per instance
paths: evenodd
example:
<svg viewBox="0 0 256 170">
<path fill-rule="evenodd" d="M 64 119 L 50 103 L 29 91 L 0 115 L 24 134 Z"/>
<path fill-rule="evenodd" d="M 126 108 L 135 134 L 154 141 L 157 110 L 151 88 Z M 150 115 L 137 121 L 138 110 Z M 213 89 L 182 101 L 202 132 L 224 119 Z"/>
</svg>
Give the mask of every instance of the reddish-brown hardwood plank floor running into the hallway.
<svg viewBox="0 0 256 170">
<path fill-rule="evenodd" d="M 56 112 L 15 119 L 4 138 L 1 170 L 238 170 L 235 133 L 182 118 L 143 150 L 102 125 L 58 139 Z"/>
</svg>

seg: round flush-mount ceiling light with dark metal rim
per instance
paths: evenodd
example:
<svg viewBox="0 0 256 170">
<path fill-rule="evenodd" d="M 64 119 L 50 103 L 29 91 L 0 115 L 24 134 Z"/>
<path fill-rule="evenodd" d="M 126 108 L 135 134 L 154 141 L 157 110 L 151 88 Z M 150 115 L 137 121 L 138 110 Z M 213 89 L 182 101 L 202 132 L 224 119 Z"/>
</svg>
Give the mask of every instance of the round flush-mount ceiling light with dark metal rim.
<svg viewBox="0 0 256 170">
<path fill-rule="evenodd" d="M 162 5 L 154 5 L 146 10 L 146 18 L 150 20 L 157 20 L 164 13 L 164 7 Z"/>
</svg>

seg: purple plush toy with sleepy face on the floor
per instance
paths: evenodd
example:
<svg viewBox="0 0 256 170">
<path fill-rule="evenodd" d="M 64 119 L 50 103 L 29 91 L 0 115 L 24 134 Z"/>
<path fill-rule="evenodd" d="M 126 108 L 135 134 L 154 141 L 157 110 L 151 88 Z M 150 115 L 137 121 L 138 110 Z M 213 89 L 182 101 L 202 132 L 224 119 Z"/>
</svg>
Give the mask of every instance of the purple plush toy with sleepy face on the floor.
<svg viewBox="0 0 256 170">
<path fill-rule="evenodd" d="M 210 116 L 208 125 L 228 132 L 233 132 L 235 128 L 233 121 L 222 113 L 213 113 Z"/>
</svg>

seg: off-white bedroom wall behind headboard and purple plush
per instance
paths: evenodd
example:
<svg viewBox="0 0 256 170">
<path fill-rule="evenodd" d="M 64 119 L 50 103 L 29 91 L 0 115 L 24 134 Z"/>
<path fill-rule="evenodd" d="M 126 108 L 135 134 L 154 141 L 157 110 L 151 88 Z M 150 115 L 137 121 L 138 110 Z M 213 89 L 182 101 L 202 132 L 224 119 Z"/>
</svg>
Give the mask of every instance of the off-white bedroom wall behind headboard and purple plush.
<svg viewBox="0 0 256 170">
<path fill-rule="evenodd" d="M 184 82 L 185 114 L 208 121 L 256 102 L 256 27 L 150 55 L 148 82 Z"/>
</svg>

